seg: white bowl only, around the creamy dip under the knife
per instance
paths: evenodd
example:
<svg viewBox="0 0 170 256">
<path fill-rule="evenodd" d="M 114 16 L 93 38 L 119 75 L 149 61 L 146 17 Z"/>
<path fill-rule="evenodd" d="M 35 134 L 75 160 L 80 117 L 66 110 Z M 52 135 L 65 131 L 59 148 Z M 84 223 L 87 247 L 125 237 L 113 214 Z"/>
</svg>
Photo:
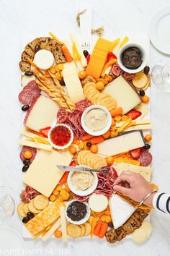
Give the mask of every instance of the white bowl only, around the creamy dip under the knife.
<svg viewBox="0 0 170 256">
<path fill-rule="evenodd" d="M 90 168 L 89 166 L 78 166 L 78 167 Z M 74 194 L 80 195 L 81 197 L 84 197 L 86 195 L 90 195 L 97 188 L 98 177 L 97 177 L 97 174 L 95 172 L 91 171 L 91 174 L 93 174 L 93 176 L 94 176 L 94 183 L 92 184 L 91 187 L 89 187 L 89 189 L 86 189 L 86 190 L 79 190 L 79 189 L 76 189 L 74 187 L 73 183 L 71 182 L 71 178 L 72 178 L 73 174 L 74 174 L 74 171 L 70 171 L 70 173 L 68 174 L 67 182 L 68 182 L 68 187 L 71 189 L 71 191 Z"/>
</svg>

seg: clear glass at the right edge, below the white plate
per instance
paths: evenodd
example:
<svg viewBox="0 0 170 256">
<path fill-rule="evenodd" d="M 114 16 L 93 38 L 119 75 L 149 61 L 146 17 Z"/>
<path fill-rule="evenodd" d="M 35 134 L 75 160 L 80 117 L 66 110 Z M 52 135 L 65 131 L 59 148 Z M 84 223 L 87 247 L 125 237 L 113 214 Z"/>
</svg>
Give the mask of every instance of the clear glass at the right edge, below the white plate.
<svg viewBox="0 0 170 256">
<path fill-rule="evenodd" d="M 151 77 L 155 88 L 170 92 L 170 63 L 159 61 L 153 66 Z"/>
</svg>

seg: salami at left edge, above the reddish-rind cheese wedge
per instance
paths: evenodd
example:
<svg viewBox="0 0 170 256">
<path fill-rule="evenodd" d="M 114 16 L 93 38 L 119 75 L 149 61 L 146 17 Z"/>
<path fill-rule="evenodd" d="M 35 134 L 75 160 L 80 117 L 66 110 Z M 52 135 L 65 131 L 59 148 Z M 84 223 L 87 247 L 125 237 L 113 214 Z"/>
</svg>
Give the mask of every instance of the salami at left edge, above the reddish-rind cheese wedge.
<svg viewBox="0 0 170 256">
<path fill-rule="evenodd" d="M 40 95 L 40 89 L 35 80 L 33 80 L 24 87 L 21 93 L 19 93 L 18 98 L 20 103 L 30 105 L 37 95 Z"/>
</svg>

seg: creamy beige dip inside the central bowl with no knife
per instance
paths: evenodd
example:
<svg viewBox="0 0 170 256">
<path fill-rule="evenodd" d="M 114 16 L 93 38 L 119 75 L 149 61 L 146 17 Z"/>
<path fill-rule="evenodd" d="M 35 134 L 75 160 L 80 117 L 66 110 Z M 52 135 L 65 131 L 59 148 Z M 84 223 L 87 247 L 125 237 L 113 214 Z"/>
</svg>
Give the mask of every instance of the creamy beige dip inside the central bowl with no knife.
<svg viewBox="0 0 170 256">
<path fill-rule="evenodd" d="M 96 132 L 104 129 L 108 122 L 107 114 L 99 108 L 94 108 L 89 111 L 85 116 L 86 127 L 91 131 Z"/>
</svg>

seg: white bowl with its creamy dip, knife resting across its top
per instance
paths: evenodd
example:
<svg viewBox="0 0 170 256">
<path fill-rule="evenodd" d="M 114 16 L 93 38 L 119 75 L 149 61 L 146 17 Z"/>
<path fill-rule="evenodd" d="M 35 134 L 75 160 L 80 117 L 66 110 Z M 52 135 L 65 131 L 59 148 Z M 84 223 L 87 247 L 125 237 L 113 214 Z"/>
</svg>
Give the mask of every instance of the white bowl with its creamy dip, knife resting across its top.
<svg viewBox="0 0 170 256">
<path fill-rule="evenodd" d="M 79 167 L 89 168 L 89 166 Z M 67 181 L 68 187 L 74 194 L 86 196 L 90 195 L 97 188 L 98 177 L 92 171 L 70 171 Z"/>
</svg>

